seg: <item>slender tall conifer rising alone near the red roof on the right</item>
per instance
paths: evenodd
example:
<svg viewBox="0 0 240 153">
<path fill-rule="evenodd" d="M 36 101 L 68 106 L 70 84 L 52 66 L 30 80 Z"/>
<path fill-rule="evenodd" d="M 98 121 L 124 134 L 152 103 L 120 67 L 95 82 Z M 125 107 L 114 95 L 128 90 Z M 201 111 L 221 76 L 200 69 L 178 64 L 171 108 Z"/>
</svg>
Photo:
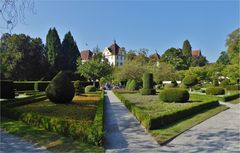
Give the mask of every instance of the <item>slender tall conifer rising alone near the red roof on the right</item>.
<svg viewBox="0 0 240 153">
<path fill-rule="evenodd" d="M 182 52 L 183 52 L 183 56 L 186 60 L 186 64 L 189 67 L 191 65 L 192 47 L 191 47 L 190 42 L 188 40 L 185 40 L 183 42 Z"/>
</svg>

